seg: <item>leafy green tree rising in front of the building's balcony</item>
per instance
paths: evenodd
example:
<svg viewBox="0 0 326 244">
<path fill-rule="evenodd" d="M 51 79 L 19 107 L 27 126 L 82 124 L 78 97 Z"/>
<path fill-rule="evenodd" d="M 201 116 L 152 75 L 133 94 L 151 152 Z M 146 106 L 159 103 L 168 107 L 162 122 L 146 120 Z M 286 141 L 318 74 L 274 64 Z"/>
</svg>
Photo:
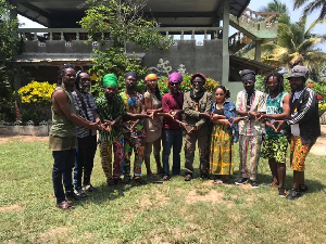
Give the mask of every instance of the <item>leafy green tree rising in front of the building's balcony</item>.
<svg viewBox="0 0 326 244">
<path fill-rule="evenodd" d="M 145 0 L 88 0 L 89 9 L 80 21 L 92 40 L 100 42 L 110 41 L 106 50 L 93 50 L 92 70 L 98 75 L 98 81 L 108 73 L 120 77 L 120 89 L 123 89 L 123 74 L 135 70 L 143 75 L 147 68 L 136 55 L 127 54 L 127 43 L 136 43 L 141 49 L 167 49 L 170 41 L 158 30 L 155 21 L 148 21 L 142 16 Z"/>
</svg>

